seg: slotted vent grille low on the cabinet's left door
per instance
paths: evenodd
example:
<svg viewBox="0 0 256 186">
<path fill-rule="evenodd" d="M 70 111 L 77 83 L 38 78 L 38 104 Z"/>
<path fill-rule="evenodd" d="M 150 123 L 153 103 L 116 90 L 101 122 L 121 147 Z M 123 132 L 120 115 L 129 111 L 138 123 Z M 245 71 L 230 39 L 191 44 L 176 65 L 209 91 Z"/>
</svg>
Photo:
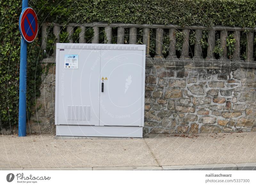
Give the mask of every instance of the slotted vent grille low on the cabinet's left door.
<svg viewBox="0 0 256 186">
<path fill-rule="evenodd" d="M 91 106 L 68 105 L 67 120 L 90 120 Z"/>
</svg>

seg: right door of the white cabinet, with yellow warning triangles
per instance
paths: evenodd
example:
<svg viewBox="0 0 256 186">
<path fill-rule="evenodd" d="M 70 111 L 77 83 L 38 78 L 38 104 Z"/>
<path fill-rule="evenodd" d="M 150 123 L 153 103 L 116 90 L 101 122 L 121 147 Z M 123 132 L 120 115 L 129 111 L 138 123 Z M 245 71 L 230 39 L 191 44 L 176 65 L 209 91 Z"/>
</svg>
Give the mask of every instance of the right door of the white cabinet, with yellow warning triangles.
<svg viewBox="0 0 256 186">
<path fill-rule="evenodd" d="M 101 50 L 100 126 L 141 126 L 142 59 L 141 50 Z"/>
</svg>

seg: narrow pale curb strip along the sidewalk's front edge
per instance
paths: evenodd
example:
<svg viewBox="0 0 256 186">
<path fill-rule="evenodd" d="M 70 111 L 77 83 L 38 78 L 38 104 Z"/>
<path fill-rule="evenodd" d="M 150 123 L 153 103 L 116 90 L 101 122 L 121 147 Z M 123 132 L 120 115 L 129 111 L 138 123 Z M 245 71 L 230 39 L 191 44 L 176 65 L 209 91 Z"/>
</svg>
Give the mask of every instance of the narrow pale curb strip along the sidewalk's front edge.
<svg viewBox="0 0 256 186">
<path fill-rule="evenodd" d="M 256 163 L 227 163 L 204 165 L 172 165 L 141 167 L 37 167 L 37 168 L 0 168 L 0 170 L 256 170 Z"/>
</svg>

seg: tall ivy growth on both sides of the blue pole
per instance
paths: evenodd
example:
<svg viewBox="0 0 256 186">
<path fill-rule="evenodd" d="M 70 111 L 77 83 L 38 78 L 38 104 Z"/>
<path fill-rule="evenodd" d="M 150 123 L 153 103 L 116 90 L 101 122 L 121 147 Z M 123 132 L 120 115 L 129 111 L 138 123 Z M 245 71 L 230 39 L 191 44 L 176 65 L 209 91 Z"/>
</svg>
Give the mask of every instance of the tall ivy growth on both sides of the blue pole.
<svg viewBox="0 0 256 186">
<path fill-rule="evenodd" d="M 19 62 L 20 32 L 19 17 L 21 1 L 0 0 L 0 130 L 17 126 L 19 111 Z M 41 66 L 37 62 L 41 58 L 38 38 L 28 44 L 28 77 L 27 77 L 27 110 L 30 116 L 31 105 L 35 97 L 40 95 Z"/>
</svg>

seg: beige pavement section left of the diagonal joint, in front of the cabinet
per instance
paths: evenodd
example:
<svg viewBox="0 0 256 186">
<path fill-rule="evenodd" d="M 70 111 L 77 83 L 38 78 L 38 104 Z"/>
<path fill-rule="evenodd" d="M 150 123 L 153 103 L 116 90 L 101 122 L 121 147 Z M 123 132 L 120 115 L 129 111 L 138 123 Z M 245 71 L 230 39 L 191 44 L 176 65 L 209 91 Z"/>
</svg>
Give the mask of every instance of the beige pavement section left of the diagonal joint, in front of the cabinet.
<svg viewBox="0 0 256 186">
<path fill-rule="evenodd" d="M 144 139 L 54 139 L 0 137 L 0 167 L 158 166 Z"/>
</svg>

